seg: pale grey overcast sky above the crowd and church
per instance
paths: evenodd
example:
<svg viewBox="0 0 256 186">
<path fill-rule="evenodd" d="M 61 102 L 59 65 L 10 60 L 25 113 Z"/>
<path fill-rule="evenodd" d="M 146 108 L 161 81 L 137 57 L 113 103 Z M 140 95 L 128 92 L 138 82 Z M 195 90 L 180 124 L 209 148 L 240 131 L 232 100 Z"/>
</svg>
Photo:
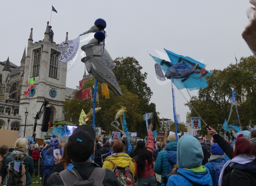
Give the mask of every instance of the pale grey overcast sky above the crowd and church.
<svg viewBox="0 0 256 186">
<path fill-rule="evenodd" d="M 134 57 L 148 73 L 147 84 L 153 91 L 151 102 L 156 104 L 160 118 L 173 120 L 171 83 L 155 78 L 156 50 L 164 48 L 194 60 L 203 60 L 207 70 L 224 69 L 235 63 L 235 55 L 252 55 L 241 33 L 248 24 L 245 11 L 251 6 L 244 0 L 166 0 L 166 1 L 3 1 L 0 0 L 1 45 L 0 61 L 20 65 L 23 50 L 33 28 L 34 42 L 44 39 L 47 21 L 51 21 L 54 41 L 75 39 L 102 18 L 107 22 L 106 49 L 116 57 Z M 58 13 L 51 12 L 51 6 Z M 52 13 L 52 17 L 51 17 Z M 88 40 L 82 36 L 81 46 Z M 80 47 L 81 47 L 80 46 Z M 68 70 L 67 87 L 76 88 L 83 78 L 84 64 L 78 52 L 74 66 Z M 166 81 L 166 82 L 167 82 Z M 231 90 L 230 90 L 231 91 Z M 181 91 L 183 95 L 188 93 Z M 196 95 L 197 91 L 190 92 Z M 188 98 L 189 99 L 189 98 Z M 175 89 L 176 111 L 186 122 L 186 99 Z"/>
</svg>

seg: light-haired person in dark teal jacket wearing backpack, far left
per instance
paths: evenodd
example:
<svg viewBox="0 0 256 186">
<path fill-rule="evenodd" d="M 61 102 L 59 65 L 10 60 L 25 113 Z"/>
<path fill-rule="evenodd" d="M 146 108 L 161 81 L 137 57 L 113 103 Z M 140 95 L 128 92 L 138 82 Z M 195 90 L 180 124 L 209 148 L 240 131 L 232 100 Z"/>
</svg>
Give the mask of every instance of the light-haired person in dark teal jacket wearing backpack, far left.
<svg viewBox="0 0 256 186">
<path fill-rule="evenodd" d="M 21 159 L 25 155 L 28 155 L 28 140 L 26 138 L 19 138 L 15 144 L 14 144 L 14 151 L 10 156 L 15 156 L 16 159 Z M 8 165 L 11 162 L 11 157 L 8 156 L 6 158 L 6 165 Z M 31 176 L 33 175 L 34 172 L 34 160 L 31 156 L 28 156 L 24 160 L 24 165 L 26 169 L 26 186 L 30 185 L 32 182 Z M 7 171 L 8 171 L 8 166 L 7 166 Z M 5 177 L 4 185 L 7 179 L 7 175 Z"/>
</svg>

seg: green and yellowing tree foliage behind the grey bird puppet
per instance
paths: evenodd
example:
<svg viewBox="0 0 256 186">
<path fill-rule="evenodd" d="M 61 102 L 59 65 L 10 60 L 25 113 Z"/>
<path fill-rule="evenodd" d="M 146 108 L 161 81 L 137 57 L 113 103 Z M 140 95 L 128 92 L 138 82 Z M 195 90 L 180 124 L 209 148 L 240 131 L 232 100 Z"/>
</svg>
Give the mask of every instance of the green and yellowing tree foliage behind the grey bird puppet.
<svg viewBox="0 0 256 186">
<path fill-rule="evenodd" d="M 147 129 L 146 122 L 142 121 L 142 115 L 145 112 L 154 112 L 155 116 L 158 116 L 156 105 L 149 103 L 153 92 L 145 82 L 147 73 L 141 73 L 142 67 L 133 57 L 117 58 L 113 63 L 115 64 L 113 71 L 123 96 L 116 96 L 109 90 L 110 98 L 105 99 L 105 96 L 101 95 L 101 84 L 98 83 L 99 104 L 97 104 L 97 107 L 101 107 L 101 110 L 96 114 L 95 126 L 99 125 L 107 134 L 115 131 L 116 129 L 110 123 L 114 121 L 117 110 L 124 106 L 127 111 L 125 112 L 125 119 L 129 131 L 137 132 L 138 137 L 144 138 L 147 134 Z M 93 87 L 94 83 L 95 79 L 88 79 L 83 89 Z M 82 109 L 87 114 L 93 107 L 92 99 L 76 99 L 75 94 L 77 91 L 78 87 L 73 97 L 65 102 L 62 108 L 65 119 L 76 124 L 78 124 Z M 121 123 L 120 119 L 117 119 L 117 121 Z M 86 124 L 92 124 L 92 119 Z M 119 128 L 122 129 L 122 126 L 119 126 Z"/>
</svg>

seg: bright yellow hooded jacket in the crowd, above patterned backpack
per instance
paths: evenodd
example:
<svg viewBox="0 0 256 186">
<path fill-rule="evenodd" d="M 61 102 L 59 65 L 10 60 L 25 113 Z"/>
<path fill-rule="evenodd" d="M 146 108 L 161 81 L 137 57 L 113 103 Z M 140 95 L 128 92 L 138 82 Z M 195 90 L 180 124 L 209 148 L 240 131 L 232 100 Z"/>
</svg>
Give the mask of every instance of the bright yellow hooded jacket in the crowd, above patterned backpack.
<svg viewBox="0 0 256 186">
<path fill-rule="evenodd" d="M 134 177 L 135 167 L 133 162 L 135 162 L 134 159 L 125 153 L 113 153 L 111 156 L 105 158 L 102 168 L 109 168 L 112 170 L 114 165 L 122 168 L 129 166 Z"/>
</svg>

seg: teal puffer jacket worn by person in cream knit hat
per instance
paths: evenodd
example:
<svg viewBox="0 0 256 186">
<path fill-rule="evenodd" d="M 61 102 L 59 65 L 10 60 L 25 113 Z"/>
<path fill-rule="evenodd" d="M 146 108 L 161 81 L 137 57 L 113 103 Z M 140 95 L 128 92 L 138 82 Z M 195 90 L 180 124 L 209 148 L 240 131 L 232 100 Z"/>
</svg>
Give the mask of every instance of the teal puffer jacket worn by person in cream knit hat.
<svg viewBox="0 0 256 186">
<path fill-rule="evenodd" d="M 167 153 L 169 154 L 169 158 L 167 158 Z M 162 182 L 163 177 L 168 175 L 169 167 L 167 165 L 167 161 L 171 164 L 177 163 L 177 142 L 169 142 L 167 143 L 166 150 L 162 150 L 158 153 L 156 158 L 156 163 L 154 166 L 154 171 L 157 174 L 162 175 L 161 185 L 164 186 Z"/>
</svg>

